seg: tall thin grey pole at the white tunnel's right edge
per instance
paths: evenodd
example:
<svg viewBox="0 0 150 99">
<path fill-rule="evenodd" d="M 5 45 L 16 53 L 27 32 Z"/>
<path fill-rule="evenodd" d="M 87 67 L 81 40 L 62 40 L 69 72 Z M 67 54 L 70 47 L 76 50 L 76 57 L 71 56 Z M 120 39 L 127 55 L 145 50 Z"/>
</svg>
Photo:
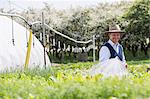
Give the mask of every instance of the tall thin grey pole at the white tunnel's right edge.
<svg viewBox="0 0 150 99">
<path fill-rule="evenodd" d="M 45 54 L 45 46 L 46 46 L 46 42 L 45 42 L 45 20 L 44 20 L 44 13 L 42 12 L 42 28 L 43 28 L 43 46 L 44 46 L 44 65 L 45 65 L 45 69 L 46 69 L 46 54 Z"/>
</svg>

